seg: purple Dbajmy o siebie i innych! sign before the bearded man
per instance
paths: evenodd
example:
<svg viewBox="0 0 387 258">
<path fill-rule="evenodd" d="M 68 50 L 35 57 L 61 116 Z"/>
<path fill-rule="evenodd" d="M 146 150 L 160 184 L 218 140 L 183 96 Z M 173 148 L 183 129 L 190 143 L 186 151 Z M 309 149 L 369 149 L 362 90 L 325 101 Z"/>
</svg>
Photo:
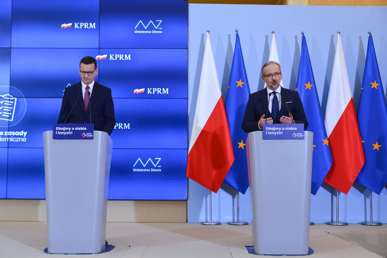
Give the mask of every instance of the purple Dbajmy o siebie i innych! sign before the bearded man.
<svg viewBox="0 0 387 258">
<path fill-rule="evenodd" d="M 263 140 L 295 140 L 304 138 L 304 124 L 264 124 Z"/>
</svg>

